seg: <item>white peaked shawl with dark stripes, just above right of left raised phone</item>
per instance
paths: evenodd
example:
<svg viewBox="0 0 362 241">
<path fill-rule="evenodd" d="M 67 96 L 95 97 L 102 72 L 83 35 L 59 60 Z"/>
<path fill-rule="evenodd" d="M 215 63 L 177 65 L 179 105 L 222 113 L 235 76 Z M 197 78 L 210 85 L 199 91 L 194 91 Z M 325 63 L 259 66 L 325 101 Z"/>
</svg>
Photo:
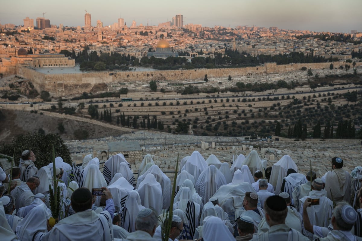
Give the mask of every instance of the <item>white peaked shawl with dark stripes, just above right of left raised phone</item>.
<svg viewBox="0 0 362 241">
<path fill-rule="evenodd" d="M 112 194 L 114 207 L 117 212 L 125 206 L 128 194 L 134 190 L 134 187 L 124 177 L 118 178 L 107 188 Z"/>
</svg>

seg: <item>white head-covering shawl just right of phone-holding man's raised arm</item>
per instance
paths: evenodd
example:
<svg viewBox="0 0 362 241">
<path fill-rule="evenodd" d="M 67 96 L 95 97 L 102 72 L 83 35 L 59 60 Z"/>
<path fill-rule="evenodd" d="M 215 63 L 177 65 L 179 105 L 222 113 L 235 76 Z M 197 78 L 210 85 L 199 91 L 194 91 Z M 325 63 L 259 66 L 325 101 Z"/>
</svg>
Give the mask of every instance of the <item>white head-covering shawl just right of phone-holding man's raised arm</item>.
<svg viewBox="0 0 362 241">
<path fill-rule="evenodd" d="M 127 196 L 125 207 L 122 210 L 122 227 L 128 232 L 136 231 L 136 217 L 144 208 L 137 190 L 131 191 Z"/>
</svg>

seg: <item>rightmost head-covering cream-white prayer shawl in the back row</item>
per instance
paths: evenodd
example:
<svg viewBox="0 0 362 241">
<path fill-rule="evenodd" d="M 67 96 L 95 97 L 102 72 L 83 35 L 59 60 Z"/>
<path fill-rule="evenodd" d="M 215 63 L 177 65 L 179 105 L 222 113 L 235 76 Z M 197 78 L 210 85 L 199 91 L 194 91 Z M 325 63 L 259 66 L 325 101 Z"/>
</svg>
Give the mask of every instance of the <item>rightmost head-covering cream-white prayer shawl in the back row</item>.
<svg viewBox="0 0 362 241">
<path fill-rule="evenodd" d="M 287 171 L 289 168 L 294 169 L 298 173 L 298 166 L 288 155 L 284 155 L 279 161 L 277 161 L 273 165 L 273 168 L 271 169 L 269 183 L 271 183 L 271 185 L 273 185 L 274 187 L 274 190 L 276 190 L 275 195 L 279 195 L 283 183 L 283 178 L 287 176 Z"/>
</svg>

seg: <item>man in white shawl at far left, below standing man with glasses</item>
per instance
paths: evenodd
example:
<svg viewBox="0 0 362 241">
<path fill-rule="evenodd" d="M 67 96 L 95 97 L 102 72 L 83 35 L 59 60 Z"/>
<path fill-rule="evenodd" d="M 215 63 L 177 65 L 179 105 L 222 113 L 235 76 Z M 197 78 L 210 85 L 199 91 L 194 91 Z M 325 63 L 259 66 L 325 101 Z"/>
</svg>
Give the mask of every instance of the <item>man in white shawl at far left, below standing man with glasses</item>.
<svg viewBox="0 0 362 241">
<path fill-rule="evenodd" d="M 21 207 L 28 206 L 31 202 L 33 202 L 33 190 L 35 190 L 39 184 L 39 178 L 29 177 L 27 182 L 22 182 L 20 186 L 17 186 L 11 191 L 10 194 L 15 198 L 16 210 L 19 210 Z"/>
</svg>

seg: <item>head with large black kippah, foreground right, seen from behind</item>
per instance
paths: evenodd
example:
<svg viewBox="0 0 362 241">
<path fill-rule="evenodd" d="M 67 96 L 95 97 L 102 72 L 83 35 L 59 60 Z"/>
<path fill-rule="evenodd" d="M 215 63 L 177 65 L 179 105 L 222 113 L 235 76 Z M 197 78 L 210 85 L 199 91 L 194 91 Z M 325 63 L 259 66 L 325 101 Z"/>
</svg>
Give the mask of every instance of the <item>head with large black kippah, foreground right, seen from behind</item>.
<svg viewBox="0 0 362 241">
<path fill-rule="evenodd" d="M 284 224 L 288 210 L 285 200 L 281 196 L 270 196 L 264 203 L 265 220 L 269 227 Z"/>
</svg>

